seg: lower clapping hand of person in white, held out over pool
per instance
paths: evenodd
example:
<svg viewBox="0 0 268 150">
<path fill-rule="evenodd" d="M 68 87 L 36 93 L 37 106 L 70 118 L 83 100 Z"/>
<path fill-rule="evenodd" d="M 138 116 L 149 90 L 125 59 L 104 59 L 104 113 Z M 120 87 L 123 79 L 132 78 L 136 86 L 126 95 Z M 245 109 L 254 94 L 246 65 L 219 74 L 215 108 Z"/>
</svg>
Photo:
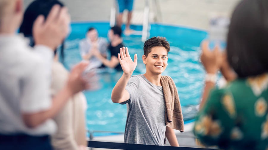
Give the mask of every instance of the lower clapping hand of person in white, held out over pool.
<svg viewBox="0 0 268 150">
<path fill-rule="evenodd" d="M 87 81 L 82 76 L 87 66 L 88 62 L 81 62 L 71 69 L 67 87 L 71 90 L 72 94 L 87 89 Z"/>
</svg>

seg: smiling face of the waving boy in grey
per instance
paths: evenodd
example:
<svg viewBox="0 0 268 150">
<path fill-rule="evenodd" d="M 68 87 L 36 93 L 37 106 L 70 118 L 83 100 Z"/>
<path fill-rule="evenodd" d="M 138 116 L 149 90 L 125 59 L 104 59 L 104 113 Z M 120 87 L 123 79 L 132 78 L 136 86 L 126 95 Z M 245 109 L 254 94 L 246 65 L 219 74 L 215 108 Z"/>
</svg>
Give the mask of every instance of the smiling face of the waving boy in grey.
<svg viewBox="0 0 268 150">
<path fill-rule="evenodd" d="M 146 65 L 146 72 L 152 75 L 162 74 L 168 65 L 167 50 L 165 47 L 152 47 L 148 56 L 142 56 L 143 63 Z"/>
</svg>

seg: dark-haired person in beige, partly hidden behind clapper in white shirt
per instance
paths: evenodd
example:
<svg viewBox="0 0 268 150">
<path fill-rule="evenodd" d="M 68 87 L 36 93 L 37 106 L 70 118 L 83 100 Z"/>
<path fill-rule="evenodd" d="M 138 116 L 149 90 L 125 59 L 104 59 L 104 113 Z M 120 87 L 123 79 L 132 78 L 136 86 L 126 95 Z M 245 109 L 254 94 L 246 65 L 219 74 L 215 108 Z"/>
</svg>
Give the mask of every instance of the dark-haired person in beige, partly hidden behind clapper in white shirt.
<svg viewBox="0 0 268 150">
<path fill-rule="evenodd" d="M 58 4 L 61 8 L 63 3 L 58 0 L 35 0 L 26 9 L 20 32 L 31 38 L 32 26 L 38 15 L 47 18 L 52 7 Z M 32 41 L 35 43 L 35 41 Z M 63 51 L 63 45 L 61 47 Z M 51 95 L 56 96 L 64 87 L 68 79 L 68 71 L 58 61 L 59 52 L 55 52 L 52 62 L 52 85 Z M 64 55 L 62 55 L 64 56 Z M 64 60 L 64 58 L 62 58 Z M 90 64 L 91 65 L 91 64 Z M 51 143 L 54 150 L 78 150 L 86 148 L 86 127 L 85 127 L 86 99 L 82 92 L 70 97 L 65 106 L 52 118 L 57 124 L 57 132 L 52 135 Z"/>
</svg>

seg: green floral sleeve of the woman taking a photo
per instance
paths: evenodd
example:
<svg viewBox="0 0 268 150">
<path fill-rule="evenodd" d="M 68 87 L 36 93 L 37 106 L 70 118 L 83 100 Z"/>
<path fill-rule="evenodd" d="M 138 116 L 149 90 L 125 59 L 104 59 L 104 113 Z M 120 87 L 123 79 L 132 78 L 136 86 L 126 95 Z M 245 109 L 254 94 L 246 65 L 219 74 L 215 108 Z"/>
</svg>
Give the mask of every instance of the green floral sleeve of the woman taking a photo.
<svg viewBox="0 0 268 150">
<path fill-rule="evenodd" d="M 233 125 L 233 121 L 222 105 L 225 95 L 223 89 L 211 90 L 207 102 L 197 115 L 193 131 L 199 141 L 206 146 L 221 147 L 230 139 L 228 128 Z"/>
</svg>

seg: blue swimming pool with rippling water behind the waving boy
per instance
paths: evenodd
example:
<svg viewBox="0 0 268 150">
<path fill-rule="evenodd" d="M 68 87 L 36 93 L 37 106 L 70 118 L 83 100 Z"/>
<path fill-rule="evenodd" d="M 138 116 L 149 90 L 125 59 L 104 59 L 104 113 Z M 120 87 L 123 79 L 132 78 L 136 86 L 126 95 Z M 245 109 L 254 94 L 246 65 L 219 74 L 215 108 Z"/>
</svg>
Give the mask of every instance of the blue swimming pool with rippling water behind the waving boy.
<svg viewBox="0 0 268 150">
<path fill-rule="evenodd" d="M 70 68 L 75 63 L 80 62 L 79 41 L 85 37 L 88 27 L 95 27 L 99 36 L 107 38 L 109 23 L 72 23 L 72 32 L 66 40 L 65 66 Z M 141 26 L 133 26 L 135 30 L 141 30 Z M 180 102 L 183 106 L 185 121 L 193 119 L 197 112 L 197 105 L 203 86 L 204 70 L 199 63 L 200 42 L 206 38 L 205 31 L 170 26 L 152 24 L 150 37 L 164 36 L 171 45 L 169 52 L 168 67 L 163 75 L 173 78 Z M 134 74 L 144 74 L 145 66 L 142 63 L 143 42 L 141 36 L 123 36 L 124 44 L 129 48 L 133 57 L 138 54 L 138 66 Z M 85 96 L 88 101 L 86 112 L 87 128 L 89 130 L 124 132 L 127 117 L 126 105 L 115 104 L 111 101 L 111 91 L 121 76 L 121 72 L 113 69 L 99 70 L 100 84 L 102 88 L 97 91 L 86 91 Z"/>
</svg>

